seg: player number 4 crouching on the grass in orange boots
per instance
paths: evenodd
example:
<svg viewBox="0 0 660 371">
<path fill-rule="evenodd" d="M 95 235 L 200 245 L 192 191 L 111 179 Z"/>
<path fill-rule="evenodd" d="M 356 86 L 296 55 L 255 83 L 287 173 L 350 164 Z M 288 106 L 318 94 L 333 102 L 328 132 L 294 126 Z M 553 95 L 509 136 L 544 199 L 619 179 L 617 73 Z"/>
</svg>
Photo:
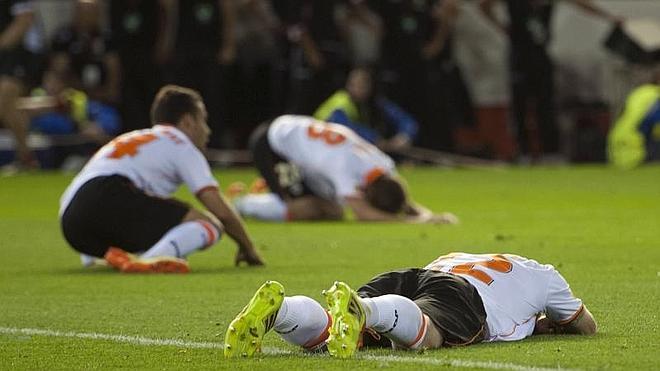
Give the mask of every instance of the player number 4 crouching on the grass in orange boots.
<svg viewBox="0 0 660 371">
<path fill-rule="evenodd" d="M 185 258 L 226 232 L 239 246 L 237 265 L 262 265 L 202 154 L 206 117 L 197 92 L 162 88 L 151 108 L 153 127 L 103 146 L 64 192 L 61 225 L 71 247 L 122 272 L 185 273 Z M 170 198 L 182 183 L 208 211 Z"/>
</svg>

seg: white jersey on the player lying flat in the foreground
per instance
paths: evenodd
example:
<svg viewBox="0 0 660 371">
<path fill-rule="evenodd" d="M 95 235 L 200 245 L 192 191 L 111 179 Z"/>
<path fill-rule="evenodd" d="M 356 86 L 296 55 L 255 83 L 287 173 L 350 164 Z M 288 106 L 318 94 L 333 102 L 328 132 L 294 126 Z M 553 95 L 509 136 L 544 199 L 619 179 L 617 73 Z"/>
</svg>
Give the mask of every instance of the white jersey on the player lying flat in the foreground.
<svg viewBox="0 0 660 371">
<path fill-rule="evenodd" d="M 582 301 L 552 265 L 517 255 L 451 253 L 425 269 L 460 275 L 476 287 L 490 333 L 485 341 L 530 336 L 541 312 L 567 323 L 582 311 Z"/>
</svg>

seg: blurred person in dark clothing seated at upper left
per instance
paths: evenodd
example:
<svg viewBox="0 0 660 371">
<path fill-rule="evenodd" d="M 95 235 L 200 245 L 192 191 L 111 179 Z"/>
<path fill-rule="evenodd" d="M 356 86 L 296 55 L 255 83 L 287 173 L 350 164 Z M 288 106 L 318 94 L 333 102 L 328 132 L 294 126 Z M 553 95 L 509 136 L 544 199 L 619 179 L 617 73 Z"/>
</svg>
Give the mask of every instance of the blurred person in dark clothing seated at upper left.
<svg viewBox="0 0 660 371">
<path fill-rule="evenodd" d="M 114 41 L 101 28 L 97 0 L 77 0 L 70 25 L 53 38 L 49 69 L 73 72 L 73 87 L 106 104 L 120 102 L 120 61 Z"/>
</svg>

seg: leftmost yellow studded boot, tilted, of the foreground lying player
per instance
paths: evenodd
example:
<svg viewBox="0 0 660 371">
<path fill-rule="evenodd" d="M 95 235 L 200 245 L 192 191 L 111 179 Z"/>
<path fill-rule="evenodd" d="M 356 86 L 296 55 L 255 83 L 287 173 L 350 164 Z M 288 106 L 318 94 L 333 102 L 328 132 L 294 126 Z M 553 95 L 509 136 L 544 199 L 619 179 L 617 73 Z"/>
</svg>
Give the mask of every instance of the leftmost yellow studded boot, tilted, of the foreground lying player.
<svg viewBox="0 0 660 371">
<path fill-rule="evenodd" d="M 264 335 L 273 328 L 283 300 L 281 283 L 266 281 L 261 285 L 229 324 L 225 334 L 225 357 L 251 357 L 260 352 Z"/>
</svg>

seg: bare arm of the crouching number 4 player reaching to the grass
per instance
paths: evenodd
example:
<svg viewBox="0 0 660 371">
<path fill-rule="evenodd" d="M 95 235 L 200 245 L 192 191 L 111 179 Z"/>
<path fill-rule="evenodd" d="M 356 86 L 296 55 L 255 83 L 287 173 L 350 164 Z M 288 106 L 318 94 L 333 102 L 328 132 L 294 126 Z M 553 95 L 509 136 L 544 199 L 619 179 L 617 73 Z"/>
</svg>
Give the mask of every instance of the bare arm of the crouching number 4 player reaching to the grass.
<svg viewBox="0 0 660 371">
<path fill-rule="evenodd" d="M 220 195 L 216 188 L 208 188 L 197 193 L 199 201 L 215 215 L 224 225 L 225 232 L 238 244 L 235 263 L 245 262 L 248 265 L 263 265 L 263 260 L 257 253 L 252 240 L 248 236 L 243 222 Z"/>
</svg>

